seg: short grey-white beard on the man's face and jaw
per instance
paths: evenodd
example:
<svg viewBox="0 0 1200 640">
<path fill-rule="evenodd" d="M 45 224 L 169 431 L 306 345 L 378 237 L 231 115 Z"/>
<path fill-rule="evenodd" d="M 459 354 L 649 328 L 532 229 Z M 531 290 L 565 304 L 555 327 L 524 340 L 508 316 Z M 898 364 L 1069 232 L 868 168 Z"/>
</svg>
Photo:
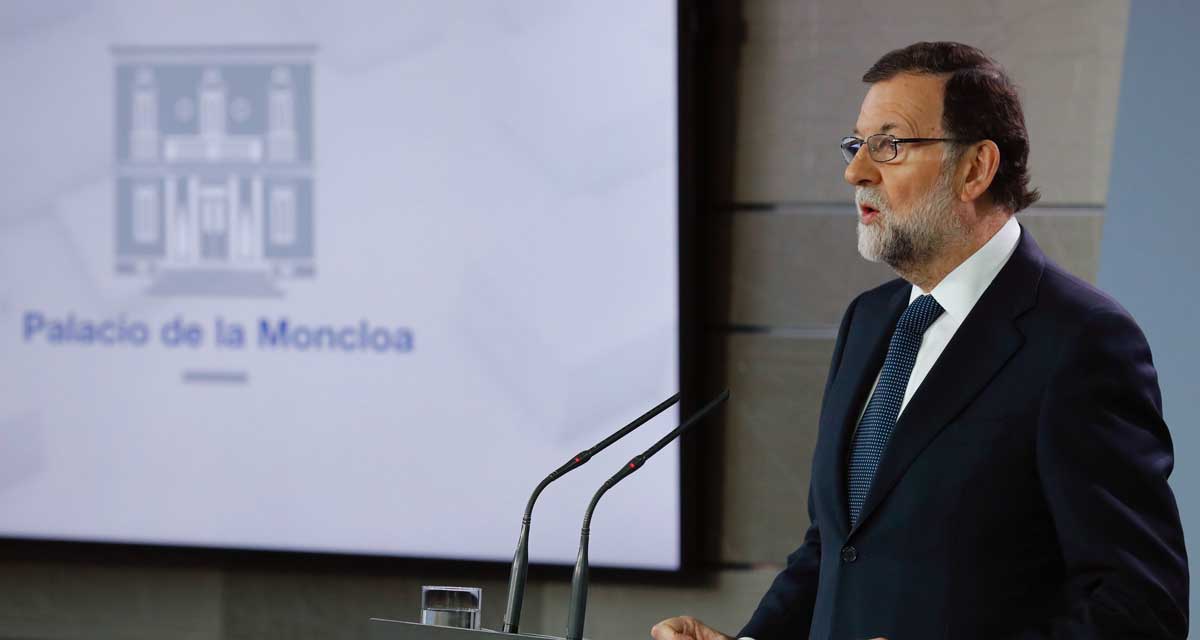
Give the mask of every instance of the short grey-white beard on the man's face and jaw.
<svg viewBox="0 0 1200 640">
<path fill-rule="evenodd" d="M 953 169 L 947 169 L 943 167 L 932 189 L 904 215 L 896 215 L 883 190 L 858 187 L 856 203 L 878 210 L 870 225 L 858 217 L 858 252 L 905 275 L 919 273 L 948 246 L 965 243 L 968 229 L 955 210 Z"/>
</svg>

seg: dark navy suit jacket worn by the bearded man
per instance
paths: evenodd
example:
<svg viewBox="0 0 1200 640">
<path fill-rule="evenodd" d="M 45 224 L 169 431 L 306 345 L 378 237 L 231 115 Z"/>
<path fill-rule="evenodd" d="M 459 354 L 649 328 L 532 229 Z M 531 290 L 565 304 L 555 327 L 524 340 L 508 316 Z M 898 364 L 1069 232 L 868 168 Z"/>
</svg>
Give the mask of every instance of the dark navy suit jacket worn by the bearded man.
<svg viewBox="0 0 1200 640">
<path fill-rule="evenodd" d="M 1174 457 L 1146 339 L 1024 228 L 900 415 L 850 527 L 851 433 L 908 292 L 895 280 L 846 310 L 811 526 L 739 635 L 1186 638 Z"/>
</svg>

